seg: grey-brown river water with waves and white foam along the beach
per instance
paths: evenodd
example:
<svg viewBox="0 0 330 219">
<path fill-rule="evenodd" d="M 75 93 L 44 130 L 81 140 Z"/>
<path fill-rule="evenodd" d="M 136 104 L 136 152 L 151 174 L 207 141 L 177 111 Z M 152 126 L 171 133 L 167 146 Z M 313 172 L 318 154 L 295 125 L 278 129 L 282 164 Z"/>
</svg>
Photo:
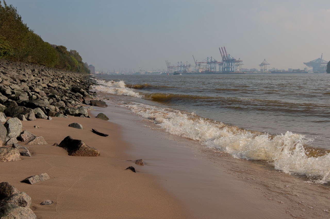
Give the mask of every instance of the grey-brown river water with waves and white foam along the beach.
<svg viewBox="0 0 330 219">
<path fill-rule="evenodd" d="M 166 132 L 330 181 L 330 74 L 101 75 L 95 90 Z"/>
</svg>

